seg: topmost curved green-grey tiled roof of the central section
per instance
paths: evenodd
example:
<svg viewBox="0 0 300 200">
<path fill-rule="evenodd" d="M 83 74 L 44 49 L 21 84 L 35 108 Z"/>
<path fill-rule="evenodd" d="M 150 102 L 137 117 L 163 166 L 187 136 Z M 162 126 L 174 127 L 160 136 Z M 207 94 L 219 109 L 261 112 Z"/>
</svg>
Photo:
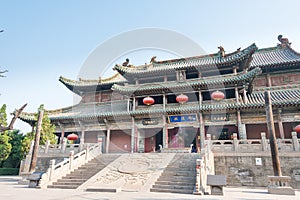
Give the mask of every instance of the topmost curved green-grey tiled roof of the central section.
<svg viewBox="0 0 300 200">
<path fill-rule="evenodd" d="M 149 65 L 138 67 L 116 65 L 114 69 L 125 77 L 147 76 L 149 73 L 161 74 L 162 72 L 166 71 L 189 68 L 199 70 L 211 69 L 212 66 L 219 67 L 239 63 L 245 59 L 250 58 L 255 50 L 257 50 L 257 47 L 255 44 L 252 44 L 246 49 L 227 54 L 224 57 L 220 56 L 219 53 L 216 53 L 204 56 L 153 62 Z"/>
</svg>

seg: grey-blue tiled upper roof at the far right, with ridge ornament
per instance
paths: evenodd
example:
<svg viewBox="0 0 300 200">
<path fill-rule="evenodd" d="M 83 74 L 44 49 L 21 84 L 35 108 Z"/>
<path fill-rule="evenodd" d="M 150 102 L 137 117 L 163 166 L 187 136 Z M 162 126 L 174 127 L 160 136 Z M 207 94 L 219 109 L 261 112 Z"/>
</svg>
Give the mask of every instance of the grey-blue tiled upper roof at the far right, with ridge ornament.
<svg viewBox="0 0 300 200">
<path fill-rule="evenodd" d="M 281 47 L 259 49 L 253 54 L 250 68 L 260 67 L 282 67 L 287 65 L 300 64 L 300 54 L 291 47 Z"/>
</svg>

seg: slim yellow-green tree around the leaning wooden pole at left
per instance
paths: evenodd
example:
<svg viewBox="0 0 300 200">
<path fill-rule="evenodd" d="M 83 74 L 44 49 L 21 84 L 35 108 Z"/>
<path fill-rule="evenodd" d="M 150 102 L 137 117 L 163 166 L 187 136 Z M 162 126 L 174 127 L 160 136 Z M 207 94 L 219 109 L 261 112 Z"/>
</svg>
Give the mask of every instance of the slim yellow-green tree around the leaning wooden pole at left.
<svg viewBox="0 0 300 200">
<path fill-rule="evenodd" d="M 44 105 L 42 104 L 39 109 L 44 109 Z M 38 118 L 38 114 L 36 114 L 36 120 Z M 30 142 L 34 140 L 36 125 L 33 129 L 33 132 L 29 132 L 26 134 L 25 138 L 22 141 L 22 151 L 24 154 L 28 153 L 30 148 Z M 42 129 L 41 129 L 41 137 L 40 137 L 40 145 L 45 145 L 47 140 L 50 141 L 50 144 L 56 143 L 56 136 L 54 135 L 55 125 L 51 124 L 51 121 L 48 117 L 47 111 L 44 112 L 43 120 L 42 120 Z"/>
</svg>

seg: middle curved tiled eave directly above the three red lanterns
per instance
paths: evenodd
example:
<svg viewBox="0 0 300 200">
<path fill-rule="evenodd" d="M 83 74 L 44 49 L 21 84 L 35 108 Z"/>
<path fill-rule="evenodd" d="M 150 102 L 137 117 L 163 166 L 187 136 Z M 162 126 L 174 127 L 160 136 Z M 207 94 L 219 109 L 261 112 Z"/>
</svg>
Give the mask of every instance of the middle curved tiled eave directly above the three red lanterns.
<svg viewBox="0 0 300 200">
<path fill-rule="evenodd" d="M 197 79 L 190 79 L 184 82 L 169 81 L 160 83 L 147 83 L 138 85 L 117 85 L 114 84 L 112 89 L 123 94 L 157 94 L 162 92 L 172 91 L 185 91 L 186 89 L 197 90 L 200 88 L 206 88 L 212 85 L 243 85 L 245 82 L 249 82 L 261 73 L 260 68 L 255 68 L 249 72 L 240 72 L 238 74 L 228 74 L 222 76 L 211 76 Z"/>
</svg>

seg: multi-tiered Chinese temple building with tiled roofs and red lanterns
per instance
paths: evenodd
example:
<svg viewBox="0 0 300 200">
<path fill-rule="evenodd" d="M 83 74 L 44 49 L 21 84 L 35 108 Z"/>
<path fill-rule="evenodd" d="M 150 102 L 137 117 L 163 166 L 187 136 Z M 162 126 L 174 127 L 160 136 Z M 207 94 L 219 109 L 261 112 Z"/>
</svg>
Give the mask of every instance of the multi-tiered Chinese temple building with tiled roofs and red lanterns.
<svg viewBox="0 0 300 200">
<path fill-rule="evenodd" d="M 300 54 L 286 38 L 274 47 L 255 44 L 226 53 L 157 61 L 129 59 L 106 79 L 60 77 L 80 103 L 48 110 L 58 143 L 75 133 L 78 143 L 103 142 L 103 152 L 199 149 L 213 140 L 260 138 L 267 132 L 264 91 L 271 92 L 276 135 L 290 138 L 300 123 Z M 20 119 L 33 125 L 34 113 Z"/>
</svg>

